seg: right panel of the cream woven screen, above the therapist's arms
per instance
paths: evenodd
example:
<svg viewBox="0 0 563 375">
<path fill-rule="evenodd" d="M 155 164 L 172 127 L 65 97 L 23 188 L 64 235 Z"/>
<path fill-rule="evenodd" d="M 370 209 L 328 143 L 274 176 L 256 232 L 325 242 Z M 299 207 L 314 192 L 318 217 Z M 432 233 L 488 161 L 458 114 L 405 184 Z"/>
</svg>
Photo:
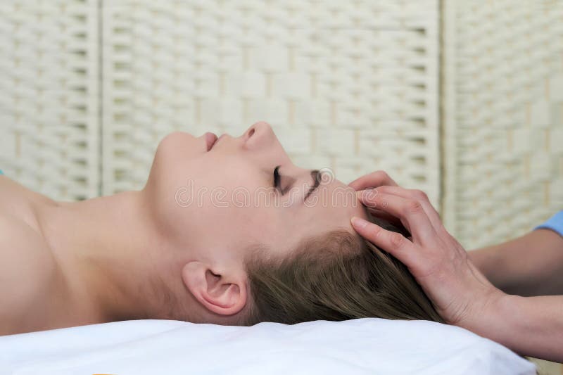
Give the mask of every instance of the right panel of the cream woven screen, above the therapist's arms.
<svg viewBox="0 0 563 375">
<path fill-rule="evenodd" d="M 445 1 L 445 218 L 467 248 L 563 208 L 563 1 Z"/>
</svg>

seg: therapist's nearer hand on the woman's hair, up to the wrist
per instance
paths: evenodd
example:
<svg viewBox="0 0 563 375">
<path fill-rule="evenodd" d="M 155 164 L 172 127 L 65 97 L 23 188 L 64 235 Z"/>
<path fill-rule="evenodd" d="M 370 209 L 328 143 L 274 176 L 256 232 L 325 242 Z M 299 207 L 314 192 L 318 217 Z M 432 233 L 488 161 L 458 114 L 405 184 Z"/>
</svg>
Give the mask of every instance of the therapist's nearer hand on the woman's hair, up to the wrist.
<svg viewBox="0 0 563 375">
<path fill-rule="evenodd" d="M 412 238 L 358 217 L 352 220 L 354 229 L 408 267 L 448 324 L 474 328 L 505 293 L 472 264 L 464 248 L 443 227 L 425 193 L 396 186 L 381 172 L 377 177 L 379 181 L 373 178 L 372 183 L 388 185 L 358 191 L 358 197 L 368 208 L 398 218 Z M 369 182 L 366 179 L 359 185 L 368 186 Z"/>
</svg>

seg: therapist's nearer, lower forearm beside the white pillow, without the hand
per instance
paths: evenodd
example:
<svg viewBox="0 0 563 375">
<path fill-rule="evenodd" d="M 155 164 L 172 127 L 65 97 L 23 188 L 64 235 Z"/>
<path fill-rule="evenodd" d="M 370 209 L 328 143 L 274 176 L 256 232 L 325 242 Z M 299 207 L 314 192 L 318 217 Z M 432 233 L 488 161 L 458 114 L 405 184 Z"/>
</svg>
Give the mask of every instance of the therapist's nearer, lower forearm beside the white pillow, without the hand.
<svg viewBox="0 0 563 375">
<path fill-rule="evenodd" d="M 490 311 L 460 325 L 520 355 L 563 362 L 563 295 L 504 295 Z"/>
</svg>

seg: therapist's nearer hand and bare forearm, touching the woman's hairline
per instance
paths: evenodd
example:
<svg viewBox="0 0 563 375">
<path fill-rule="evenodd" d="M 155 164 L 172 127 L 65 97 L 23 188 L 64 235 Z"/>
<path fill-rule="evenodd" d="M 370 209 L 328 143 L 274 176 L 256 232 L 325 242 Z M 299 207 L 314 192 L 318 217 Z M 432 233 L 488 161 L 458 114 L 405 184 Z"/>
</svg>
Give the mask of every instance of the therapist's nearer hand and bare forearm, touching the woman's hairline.
<svg viewBox="0 0 563 375">
<path fill-rule="evenodd" d="M 376 224 L 358 219 L 352 223 L 362 236 L 407 265 L 446 322 L 520 355 L 563 362 L 563 295 L 522 297 L 495 288 L 445 230 L 426 195 L 400 188 L 385 172 L 367 174 L 350 186 L 376 187 L 358 191 L 362 202 L 372 212 L 400 220 L 410 231 L 407 239 Z M 526 246 L 526 253 L 535 253 L 529 251 L 532 247 Z"/>
</svg>

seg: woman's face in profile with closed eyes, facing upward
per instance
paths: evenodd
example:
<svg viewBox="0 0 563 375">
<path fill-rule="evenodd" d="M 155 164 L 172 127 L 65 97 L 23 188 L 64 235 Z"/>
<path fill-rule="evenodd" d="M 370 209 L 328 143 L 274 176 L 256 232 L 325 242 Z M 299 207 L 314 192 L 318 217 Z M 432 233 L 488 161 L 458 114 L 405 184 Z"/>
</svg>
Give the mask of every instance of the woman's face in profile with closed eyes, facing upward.
<svg viewBox="0 0 563 375">
<path fill-rule="evenodd" d="M 214 140 L 175 132 L 158 145 L 144 191 L 173 248 L 211 263 L 240 263 L 255 244 L 283 257 L 309 236 L 353 232 L 350 217 L 366 217 L 353 189 L 330 170 L 315 178 L 293 165 L 266 122 L 238 137 L 224 134 L 208 149 Z M 315 179 L 320 184 L 304 201 Z"/>
</svg>

